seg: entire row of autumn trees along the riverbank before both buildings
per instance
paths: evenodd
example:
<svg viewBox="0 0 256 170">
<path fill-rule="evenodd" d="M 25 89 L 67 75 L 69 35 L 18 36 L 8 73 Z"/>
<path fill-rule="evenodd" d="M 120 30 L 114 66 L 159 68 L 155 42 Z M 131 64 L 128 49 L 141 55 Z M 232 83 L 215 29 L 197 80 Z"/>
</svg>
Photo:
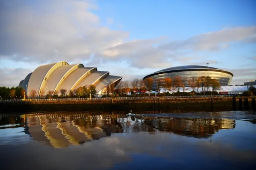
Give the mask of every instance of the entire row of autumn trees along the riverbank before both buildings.
<svg viewBox="0 0 256 170">
<path fill-rule="evenodd" d="M 209 95 L 210 88 L 212 94 L 216 95 L 217 91 L 220 90 L 220 82 L 211 77 L 192 77 L 182 78 L 176 76 L 173 78 L 166 77 L 164 80 L 157 80 L 151 77 L 144 79 L 132 79 L 131 81 L 120 81 L 118 85 L 108 85 L 101 89 L 101 97 L 128 97 L 134 96 L 150 96 L 150 91 L 156 84 L 154 91 L 162 91 L 158 95 Z M 191 92 L 185 92 L 191 89 Z M 201 89 L 199 91 L 199 89 Z M 254 88 L 255 89 L 255 88 Z M 146 93 L 148 92 L 148 93 Z M 34 99 L 39 94 L 40 99 L 50 98 L 80 98 L 80 97 L 94 97 L 98 91 L 94 85 L 81 86 L 77 89 L 67 91 L 67 89 L 60 89 L 60 91 L 44 91 L 41 90 L 39 93 L 36 90 L 28 92 L 29 98 Z M 248 94 L 247 94 L 248 93 Z M 244 93 L 245 95 L 254 95 L 255 91 L 251 90 Z M 24 98 L 25 90 L 22 87 L 0 87 L 0 98 L 2 99 L 22 99 Z M 26 96 L 28 99 L 28 96 Z"/>
</svg>

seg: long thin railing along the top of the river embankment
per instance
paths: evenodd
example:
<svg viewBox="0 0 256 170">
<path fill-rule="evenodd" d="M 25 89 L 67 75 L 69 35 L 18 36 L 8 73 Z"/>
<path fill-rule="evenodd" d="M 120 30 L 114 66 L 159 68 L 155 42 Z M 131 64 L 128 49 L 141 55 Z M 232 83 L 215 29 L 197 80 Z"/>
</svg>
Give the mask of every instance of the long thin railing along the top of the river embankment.
<svg viewBox="0 0 256 170">
<path fill-rule="evenodd" d="M 176 99 L 176 98 L 210 98 L 210 97 L 236 97 L 238 95 L 203 95 L 203 96 L 156 96 L 156 97 L 96 97 L 96 98 L 64 98 L 64 99 L 27 99 L 26 101 L 66 101 L 66 100 L 111 100 L 111 99 L 123 99 L 123 100 L 139 100 L 139 99 Z M 1 100 L 0 102 L 24 102 L 22 99 L 9 99 Z"/>
</svg>

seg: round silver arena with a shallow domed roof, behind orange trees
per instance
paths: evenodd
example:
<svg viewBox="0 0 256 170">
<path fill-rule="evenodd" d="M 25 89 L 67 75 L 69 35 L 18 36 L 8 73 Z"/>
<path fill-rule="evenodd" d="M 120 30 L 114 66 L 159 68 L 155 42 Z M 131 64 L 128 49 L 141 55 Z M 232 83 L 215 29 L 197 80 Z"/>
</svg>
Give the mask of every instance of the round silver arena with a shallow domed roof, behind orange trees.
<svg viewBox="0 0 256 170">
<path fill-rule="evenodd" d="M 153 78 L 154 83 L 152 85 L 152 90 L 155 90 L 157 88 L 157 83 L 156 83 L 157 81 L 164 80 L 166 79 L 166 77 L 170 77 L 172 79 L 176 76 L 180 76 L 182 79 L 209 76 L 212 79 L 217 79 L 220 82 L 221 86 L 228 86 L 234 75 L 229 71 L 217 69 L 214 67 L 200 66 L 200 65 L 184 65 L 184 66 L 170 67 L 167 69 L 156 71 L 154 73 L 151 73 L 145 76 L 143 80 L 145 80 L 148 77 Z M 186 86 L 188 86 L 187 83 L 186 83 Z"/>
</svg>

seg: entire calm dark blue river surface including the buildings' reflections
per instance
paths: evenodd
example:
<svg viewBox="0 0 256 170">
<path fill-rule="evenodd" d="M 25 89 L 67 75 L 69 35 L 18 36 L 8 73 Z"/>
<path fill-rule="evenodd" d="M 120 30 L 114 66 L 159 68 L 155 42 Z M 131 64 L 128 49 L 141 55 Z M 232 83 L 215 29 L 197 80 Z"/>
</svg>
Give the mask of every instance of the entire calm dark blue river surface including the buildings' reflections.
<svg viewBox="0 0 256 170">
<path fill-rule="evenodd" d="M 256 113 L 0 115 L 1 170 L 256 167 Z"/>
</svg>

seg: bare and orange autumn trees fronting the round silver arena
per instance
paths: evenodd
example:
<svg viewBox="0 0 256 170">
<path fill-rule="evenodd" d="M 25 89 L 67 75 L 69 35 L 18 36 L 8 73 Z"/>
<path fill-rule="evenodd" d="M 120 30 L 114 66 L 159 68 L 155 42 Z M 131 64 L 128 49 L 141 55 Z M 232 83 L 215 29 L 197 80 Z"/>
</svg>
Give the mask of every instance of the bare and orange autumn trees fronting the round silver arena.
<svg viewBox="0 0 256 170">
<path fill-rule="evenodd" d="M 175 93 L 180 95 L 180 91 L 183 91 L 183 94 L 185 94 L 185 91 L 188 89 L 192 89 L 192 94 L 195 95 L 195 93 L 199 93 L 199 89 L 202 89 L 202 92 L 205 95 L 206 91 L 210 91 L 210 87 L 212 89 L 213 93 L 216 93 L 216 91 L 220 90 L 220 82 L 218 82 L 217 79 L 212 79 L 211 77 L 192 77 L 192 78 L 182 78 L 180 76 L 176 76 L 173 78 L 166 77 L 164 80 L 157 80 L 153 79 L 151 77 L 148 77 L 146 79 L 140 80 L 140 79 L 133 79 L 132 81 L 121 81 L 117 85 L 117 89 L 120 91 L 120 93 L 126 94 L 129 92 L 134 93 L 135 95 L 137 93 L 143 92 L 145 95 L 145 92 L 148 91 L 150 95 L 150 91 L 152 90 L 153 85 L 155 84 L 156 89 L 153 89 L 154 91 L 160 92 L 163 91 L 162 95 L 175 95 Z"/>
</svg>

